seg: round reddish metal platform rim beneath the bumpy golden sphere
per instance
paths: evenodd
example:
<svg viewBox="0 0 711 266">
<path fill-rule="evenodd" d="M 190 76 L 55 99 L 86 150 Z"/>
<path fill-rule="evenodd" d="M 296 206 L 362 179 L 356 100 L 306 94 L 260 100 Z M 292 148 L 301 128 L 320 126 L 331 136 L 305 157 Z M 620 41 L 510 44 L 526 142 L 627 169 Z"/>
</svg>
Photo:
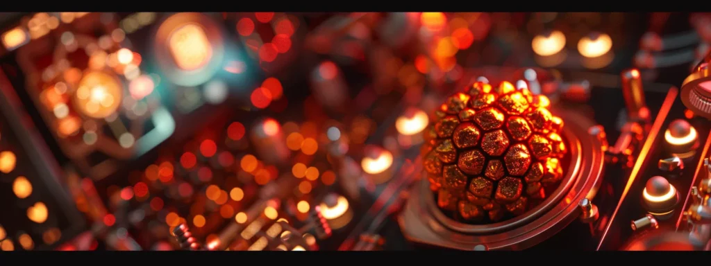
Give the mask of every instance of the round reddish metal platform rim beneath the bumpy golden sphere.
<svg viewBox="0 0 711 266">
<path fill-rule="evenodd" d="M 570 165 L 560 187 L 545 201 L 506 221 L 465 224 L 454 221 L 437 208 L 427 179 L 422 179 L 413 188 L 399 219 L 405 237 L 417 243 L 459 250 L 474 250 L 477 245 L 486 245 L 489 250 L 520 250 L 550 238 L 579 217 L 578 202 L 592 199 L 599 188 L 604 144 L 589 135 L 589 128 L 595 126 L 589 118 L 563 109 L 552 109 L 552 113 L 566 122 L 562 137 L 570 147 Z"/>
</svg>

